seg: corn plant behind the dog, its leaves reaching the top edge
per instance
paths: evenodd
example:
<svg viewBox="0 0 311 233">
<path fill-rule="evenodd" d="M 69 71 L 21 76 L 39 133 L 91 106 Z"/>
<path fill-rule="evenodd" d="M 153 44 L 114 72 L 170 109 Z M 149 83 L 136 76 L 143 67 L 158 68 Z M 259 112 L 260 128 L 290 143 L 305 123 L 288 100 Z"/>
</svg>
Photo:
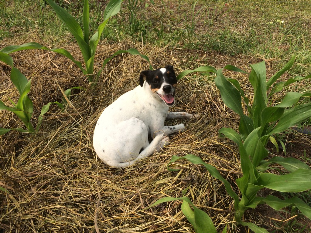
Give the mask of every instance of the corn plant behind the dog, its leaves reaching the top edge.
<svg viewBox="0 0 311 233">
<path fill-rule="evenodd" d="M 107 64 L 109 60 L 111 60 L 113 57 L 115 57 L 116 55 L 120 53 L 130 53 L 132 55 L 140 55 L 142 58 L 146 59 L 150 64 L 148 57 L 140 54 L 136 49 L 130 48 L 128 50 L 119 50 L 116 53 L 114 53 L 111 57 L 104 60 L 104 64 L 102 68 L 100 69 L 100 71 L 97 71 L 96 74 L 94 74 L 94 57 L 95 57 L 96 48 L 99 43 L 101 34 L 107 22 L 109 21 L 109 19 L 120 11 L 122 0 L 110 0 L 109 1 L 108 5 L 106 6 L 104 10 L 104 22 L 98 26 L 97 31 L 91 36 L 91 38 L 90 38 L 90 28 L 89 28 L 90 9 L 89 9 L 88 0 L 84 0 L 84 5 L 83 5 L 83 13 L 82 13 L 83 14 L 83 17 L 82 17 L 83 30 L 81 26 L 79 25 L 79 23 L 75 20 L 75 18 L 71 14 L 69 14 L 63 7 L 60 7 L 52 0 L 46 0 L 46 2 L 52 7 L 56 15 L 58 16 L 58 18 L 65 23 L 69 31 L 72 33 L 72 35 L 76 39 L 76 42 L 78 46 L 80 47 L 80 50 L 83 56 L 85 68 L 82 66 L 82 63 L 80 61 L 76 61 L 66 49 L 63 49 L 63 48 L 49 49 L 35 42 L 26 43 L 23 45 L 7 46 L 5 48 L 2 48 L 0 52 L 9 54 L 9 53 L 13 53 L 13 52 L 25 50 L 25 49 L 44 49 L 44 50 L 49 50 L 49 51 L 62 54 L 63 56 L 69 58 L 72 62 L 74 62 L 81 69 L 84 75 L 87 75 L 87 79 L 89 82 L 94 81 L 94 76 L 95 76 L 95 81 L 96 81 L 98 77 L 100 76 L 100 73 L 102 72 L 104 68 L 104 65 Z M 150 65 L 150 69 L 152 69 L 151 65 Z"/>
</svg>

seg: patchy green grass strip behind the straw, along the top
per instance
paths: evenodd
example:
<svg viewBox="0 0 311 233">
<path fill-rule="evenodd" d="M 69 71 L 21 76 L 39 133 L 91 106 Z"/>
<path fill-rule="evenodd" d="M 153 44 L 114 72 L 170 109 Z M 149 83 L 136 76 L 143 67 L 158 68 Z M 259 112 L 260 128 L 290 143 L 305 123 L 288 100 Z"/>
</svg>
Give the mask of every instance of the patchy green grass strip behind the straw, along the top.
<svg viewBox="0 0 311 233">
<path fill-rule="evenodd" d="M 82 20 L 82 3 L 59 1 Z M 0 36 L 23 37 L 36 32 L 56 41 L 67 38 L 67 29 L 42 0 L 8 3 L 2 0 Z M 104 3 L 90 2 L 91 28 L 101 22 Z M 187 10 L 188 9 L 188 10 Z M 103 36 L 109 42 L 131 37 L 160 46 L 190 48 L 235 56 L 261 55 L 265 59 L 288 59 L 298 53 L 293 72 L 308 72 L 311 63 L 311 7 L 305 1 L 197 1 L 178 3 L 124 1 L 120 14 Z M 284 21 L 284 23 L 277 22 Z M 273 24 L 270 24 L 273 22 Z M 60 28 L 60 30 L 59 30 Z M 58 30 L 55 30 L 58 29 Z M 118 36 L 117 36 L 118 34 Z M 109 36 L 110 35 L 110 36 Z M 44 38 L 43 38 L 44 39 Z"/>
</svg>

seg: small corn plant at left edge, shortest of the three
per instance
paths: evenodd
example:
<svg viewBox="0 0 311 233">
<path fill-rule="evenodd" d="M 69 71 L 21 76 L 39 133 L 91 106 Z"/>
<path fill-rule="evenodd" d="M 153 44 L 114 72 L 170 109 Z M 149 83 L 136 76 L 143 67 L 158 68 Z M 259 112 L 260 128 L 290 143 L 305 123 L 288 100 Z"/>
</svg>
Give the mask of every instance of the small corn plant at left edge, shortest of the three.
<svg viewBox="0 0 311 233">
<path fill-rule="evenodd" d="M 30 92 L 30 84 L 31 80 L 27 80 L 25 75 L 21 73 L 17 68 L 13 66 L 13 59 L 10 55 L 6 53 L 1 53 L 0 52 L 0 60 L 7 65 L 12 67 L 10 78 L 12 83 L 15 85 L 17 88 L 20 98 L 18 99 L 17 103 L 14 103 L 11 99 L 11 103 L 13 104 L 12 107 L 5 105 L 1 100 L 0 100 L 0 110 L 7 110 L 12 113 L 14 113 L 17 117 L 23 121 L 23 123 L 26 126 L 26 129 L 20 127 L 20 128 L 0 128 L 0 135 L 5 134 L 9 132 L 10 130 L 17 130 L 20 132 L 28 132 L 28 133 L 35 133 L 38 132 L 39 127 L 41 125 L 41 122 L 43 120 L 43 115 L 49 111 L 49 107 L 51 104 L 57 104 L 58 107 L 63 108 L 63 104 L 59 102 L 53 102 L 53 103 L 48 103 L 47 105 L 44 105 L 41 109 L 41 113 L 38 117 L 38 122 L 36 129 L 32 126 L 30 120 L 33 115 L 34 111 L 34 106 L 30 98 L 28 97 L 28 93 Z"/>
</svg>

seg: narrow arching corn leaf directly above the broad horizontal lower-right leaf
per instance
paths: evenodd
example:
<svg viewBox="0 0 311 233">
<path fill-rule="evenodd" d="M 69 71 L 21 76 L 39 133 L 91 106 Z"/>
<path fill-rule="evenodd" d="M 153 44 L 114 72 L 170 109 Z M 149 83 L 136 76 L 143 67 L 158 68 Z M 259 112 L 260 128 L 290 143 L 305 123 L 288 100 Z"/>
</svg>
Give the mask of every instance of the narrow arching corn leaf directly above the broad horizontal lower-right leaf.
<svg viewBox="0 0 311 233">
<path fill-rule="evenodd" d="M 269 166 L 272 163 L 280 164 L 289 172 L 296 171 L 299 168 L 310 169 L 310 167 L 307 164 L 300 161 L 299 159 L 291 158 L 291 157 L 283 158 L 283 157 L 279 157 L 279 156 L 275 156 L 268 161 L 262 161 L 260 166 L 257 167 L 257 169 L 263 170 L 264 168 L 266 168 L 267 166 Z M 265 170 L 267 170 L 267 169 L 265 169 Z"/>
</svg>

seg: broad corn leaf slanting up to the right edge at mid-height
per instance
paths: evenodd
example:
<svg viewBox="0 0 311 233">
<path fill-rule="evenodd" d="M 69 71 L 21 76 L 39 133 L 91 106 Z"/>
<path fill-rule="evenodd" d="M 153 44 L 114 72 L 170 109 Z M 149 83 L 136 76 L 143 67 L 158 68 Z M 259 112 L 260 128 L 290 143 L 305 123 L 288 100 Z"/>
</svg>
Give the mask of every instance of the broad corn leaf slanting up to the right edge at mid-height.
<svg viewBox="0 0 311 233">
<path fill-rule="evenodd" d="M 311 117 L 311 103 L 297 105 L 280 118 L 277 125 L 267 135 L 277 134 L 287 130 L 288 128 L 298 125 L 302 121 Z"/>
</svg>

